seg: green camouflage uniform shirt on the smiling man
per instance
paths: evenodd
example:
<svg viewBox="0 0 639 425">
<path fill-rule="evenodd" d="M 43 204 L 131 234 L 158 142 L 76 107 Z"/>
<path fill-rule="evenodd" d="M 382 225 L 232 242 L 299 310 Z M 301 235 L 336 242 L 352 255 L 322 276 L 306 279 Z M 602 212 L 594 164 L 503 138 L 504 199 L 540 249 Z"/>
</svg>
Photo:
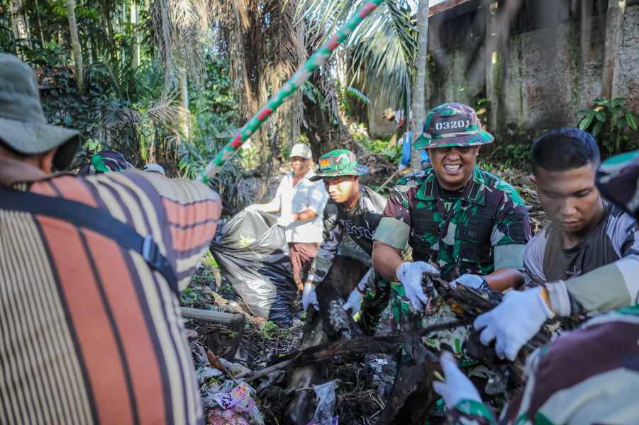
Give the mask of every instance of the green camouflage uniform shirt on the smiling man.
<svg viewBox="0 0 639 425">
<path fill-rule="evenodd" d="M 436 263 L 446 280 L 523 269 L 530 222 L 512 186 L 476 166 L 448 204 L 433 169 L 409 174 L 392 188 L 374 239 L 397 249 L 408 242 L 413 260 Z"/>
</svg>

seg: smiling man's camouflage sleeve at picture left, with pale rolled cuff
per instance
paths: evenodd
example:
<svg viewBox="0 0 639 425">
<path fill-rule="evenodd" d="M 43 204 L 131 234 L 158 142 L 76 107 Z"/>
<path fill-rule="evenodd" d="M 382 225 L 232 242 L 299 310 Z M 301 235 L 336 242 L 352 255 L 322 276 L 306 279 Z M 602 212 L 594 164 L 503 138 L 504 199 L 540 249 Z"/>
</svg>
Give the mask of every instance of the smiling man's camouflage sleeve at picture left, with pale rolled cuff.
<svg viewBox="0 0 639 425">
<path fill-rule="evenodd" d="M 410 235 L 411 212 L 408 203 L 401 196 L 401 193 L 393 188 L 373 239 L 389 244 L 393 248 L 404 250 Z"/>
</svg>

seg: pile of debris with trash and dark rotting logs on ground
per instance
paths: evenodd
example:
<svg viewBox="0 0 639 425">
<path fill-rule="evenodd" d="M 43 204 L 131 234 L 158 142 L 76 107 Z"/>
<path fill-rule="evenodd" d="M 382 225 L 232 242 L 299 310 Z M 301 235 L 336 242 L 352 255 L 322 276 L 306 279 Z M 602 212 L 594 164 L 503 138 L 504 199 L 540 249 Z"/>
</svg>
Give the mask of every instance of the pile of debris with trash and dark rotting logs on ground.
<svg viewBox="0 0 639 425">
<path fill-rule="evenodd" d="M 211 286 L 215 275 L 200 269 L 182 295 L 209 424 L 377 424 L 394 380 L 398 336 L 349 339 L 360 331 L 340 303 L 310 313 L 304 329 L 299 319 L 281 327 L 242 310 L 226 278 L 218 290 Z M 340 317 L 333 336 L 337 328 L 342 339 L 327 338 L 322 316 Z M 390 333 L 390 318 L 385 312 L 379 334 Z"/>
</svg>

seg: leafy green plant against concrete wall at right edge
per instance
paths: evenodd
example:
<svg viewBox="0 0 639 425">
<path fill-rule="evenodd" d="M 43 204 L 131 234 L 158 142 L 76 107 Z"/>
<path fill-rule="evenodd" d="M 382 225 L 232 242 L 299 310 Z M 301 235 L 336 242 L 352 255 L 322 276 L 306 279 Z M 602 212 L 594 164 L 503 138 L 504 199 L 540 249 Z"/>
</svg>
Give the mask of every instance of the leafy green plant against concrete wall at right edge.
<svg viewBox="0 0 639 425">
<path fill-rule="evenodd" d="M 623 133 L 626 126 L 638 131 L 639 115 L 628 112 L 628 107 L 622 104 L 626 101 L 627 98 L 614 98 L 612 101 L 596 98 L 594 108 L 579 111 L 579 115 L 584 115 L 579 129 L 590 132 L 609 154 L 636 149 Z"/>
</svg>

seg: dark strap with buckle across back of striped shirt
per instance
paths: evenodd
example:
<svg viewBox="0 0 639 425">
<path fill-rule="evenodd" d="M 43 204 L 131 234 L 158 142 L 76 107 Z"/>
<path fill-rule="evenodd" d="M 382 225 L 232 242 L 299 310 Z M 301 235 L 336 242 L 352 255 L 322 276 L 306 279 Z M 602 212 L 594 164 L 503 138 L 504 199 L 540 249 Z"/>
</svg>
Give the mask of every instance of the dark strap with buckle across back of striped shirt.
<svg viewBox="0 0 639 425">
<path fill-rule="evenodd" d="M 175 295 L 179 296 L 177 277 L 169 261 L 160 253 L 160 247 L 157 246 L 152 235 L 143 237 L 133 227 L 121 222 L 106 211 L 74 200 L 13 191 L 2 186 L 0 186 L 0 208 L 48 215 L 113 239 L 123 248 L 133 249 L 142 255 L 149 266 L 164 276 Z"/>
</svg>

